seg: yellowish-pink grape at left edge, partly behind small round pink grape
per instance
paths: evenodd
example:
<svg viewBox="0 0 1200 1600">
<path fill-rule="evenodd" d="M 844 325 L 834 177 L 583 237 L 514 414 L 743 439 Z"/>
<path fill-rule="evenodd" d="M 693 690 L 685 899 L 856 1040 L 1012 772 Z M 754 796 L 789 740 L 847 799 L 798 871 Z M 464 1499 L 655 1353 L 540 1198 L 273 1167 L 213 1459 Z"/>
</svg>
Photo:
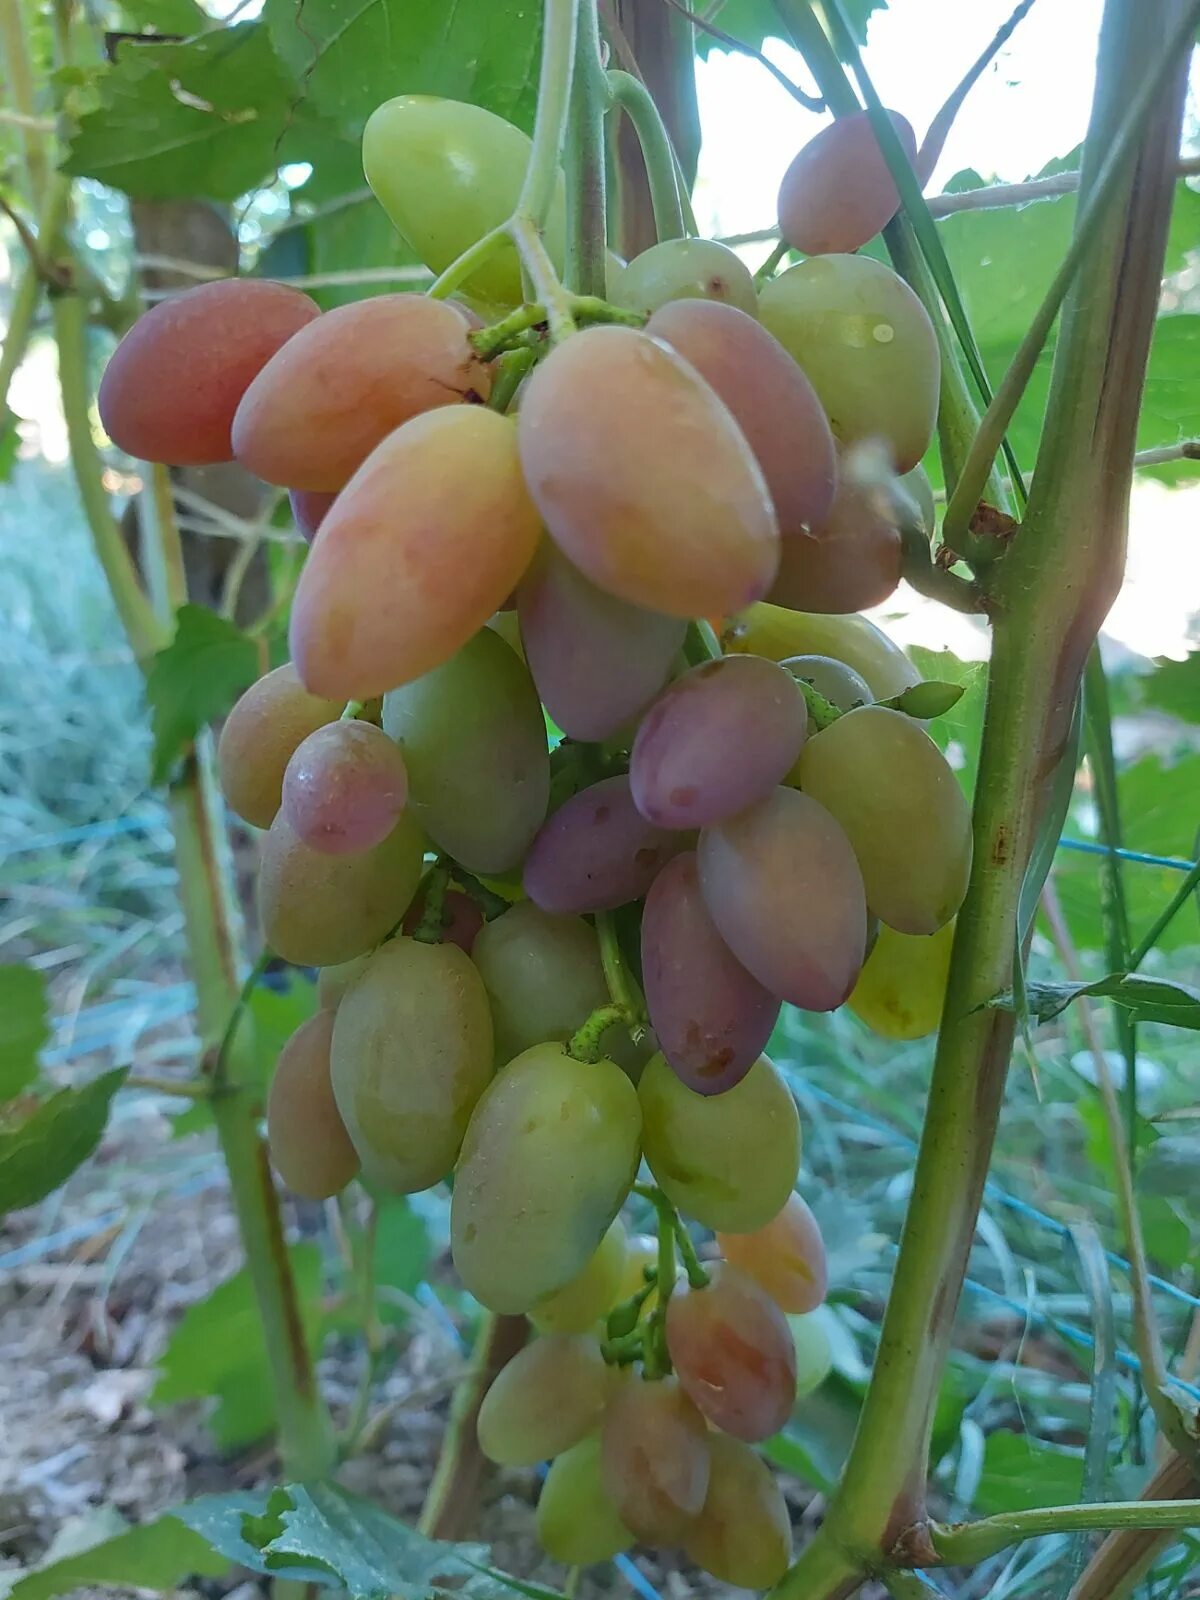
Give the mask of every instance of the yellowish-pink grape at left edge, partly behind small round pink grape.
<svg viewBox="0 0 1200 1600">
<path fill-rule="evenodd" d="M 216 746 L 221 794 L 243 822 L 270 827 L 296 746 L 341 717 L 342 704 L 309 694 L 291 662 L 250 685 L 226 717 Z"/>
</svg>

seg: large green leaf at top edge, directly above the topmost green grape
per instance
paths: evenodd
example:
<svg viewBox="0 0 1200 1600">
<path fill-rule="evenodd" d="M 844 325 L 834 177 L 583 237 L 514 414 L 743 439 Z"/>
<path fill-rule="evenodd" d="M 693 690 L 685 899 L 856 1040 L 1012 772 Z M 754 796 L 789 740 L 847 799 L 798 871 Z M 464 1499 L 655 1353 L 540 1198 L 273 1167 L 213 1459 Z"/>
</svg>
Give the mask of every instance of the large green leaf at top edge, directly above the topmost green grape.
<svg viewBox="0 0 1200 1600">
<path fill-rule="evenodd" d="M 530 0 L 267 0 L 280 59 L 315 109 L 362 128 L 394 94 L 445 94 L 533 126 L 541 6 Z"/>
</svg>

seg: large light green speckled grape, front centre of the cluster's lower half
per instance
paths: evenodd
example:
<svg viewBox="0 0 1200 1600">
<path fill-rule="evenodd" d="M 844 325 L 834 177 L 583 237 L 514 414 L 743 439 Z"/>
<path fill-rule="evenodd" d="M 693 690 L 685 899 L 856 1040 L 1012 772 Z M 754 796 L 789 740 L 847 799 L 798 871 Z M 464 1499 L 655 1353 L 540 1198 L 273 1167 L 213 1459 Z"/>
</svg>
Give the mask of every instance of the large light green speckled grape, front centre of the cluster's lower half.
<svg viewBox="0 0 1200 1600">
<path fill-rule="evenodd" d="M 630 1190 L 640 1133 L 637 1090 L 611 1061 L 536 1045 L 504 1067 L 470 1118 L 450 1208 L 475 1299 L 528 1312 L 584 1269 Z"/>
</svg>

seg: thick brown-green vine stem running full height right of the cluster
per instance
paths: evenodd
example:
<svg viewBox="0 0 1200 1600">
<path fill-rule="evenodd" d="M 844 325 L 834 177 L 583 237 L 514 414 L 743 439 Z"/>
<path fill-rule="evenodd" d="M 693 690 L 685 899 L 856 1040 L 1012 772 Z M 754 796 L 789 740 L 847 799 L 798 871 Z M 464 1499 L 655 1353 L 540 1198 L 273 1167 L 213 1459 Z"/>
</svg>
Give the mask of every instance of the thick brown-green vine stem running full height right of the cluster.
<svg viewBox="0 0 1200 1600">
<path fill-rule="evenodd" d="M 1157 67 L 1147 59 L 1157 56 L 1157 40 L 1144 22 L 1138 0 L 1107 0 L 1083 152 L 1085 205 L 1125 106 Z M 1014 1032 L 1014 1018 L 989 1011 L 987 1000 L 1013 981 L 1026 866 L 1067 747 L 1088 648 L 1120 586 L 1184 67 L 1181 51 L 1142 131 L 1136 173 L 1131 162 L 1109 190 L 1093 248 L 1067 294 L 1029 507 L 995 568 L 974 861 L 958 912 L 912 1198 L 854 1443 L 818 1539 L 779 1586 L 786 1600 L 850 1595 L 880 1562 L 938 1560 L 925 1520 L 934 1402 Z M 1102 474 L 1096 461 L 1104 461 Z"/>
</svg>

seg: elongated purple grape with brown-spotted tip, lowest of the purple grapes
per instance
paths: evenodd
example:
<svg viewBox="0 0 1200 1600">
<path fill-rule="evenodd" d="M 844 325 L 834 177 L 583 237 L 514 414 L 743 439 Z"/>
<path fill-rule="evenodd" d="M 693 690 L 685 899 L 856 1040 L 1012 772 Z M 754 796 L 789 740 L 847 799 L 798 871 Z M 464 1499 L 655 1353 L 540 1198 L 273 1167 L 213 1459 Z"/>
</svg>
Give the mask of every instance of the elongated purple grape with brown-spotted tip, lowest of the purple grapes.
<svg viewBox="0 0 1200 1600">
<path fill-rule="evenodd" d="M 698 1094 L 741 1083 L 771 1037 L 779 1002 L 717 933 L 694 850 L 669 861 L 646 894 L 642 982 L 650 1026 L 682 1082 Z"/>
</svg>

